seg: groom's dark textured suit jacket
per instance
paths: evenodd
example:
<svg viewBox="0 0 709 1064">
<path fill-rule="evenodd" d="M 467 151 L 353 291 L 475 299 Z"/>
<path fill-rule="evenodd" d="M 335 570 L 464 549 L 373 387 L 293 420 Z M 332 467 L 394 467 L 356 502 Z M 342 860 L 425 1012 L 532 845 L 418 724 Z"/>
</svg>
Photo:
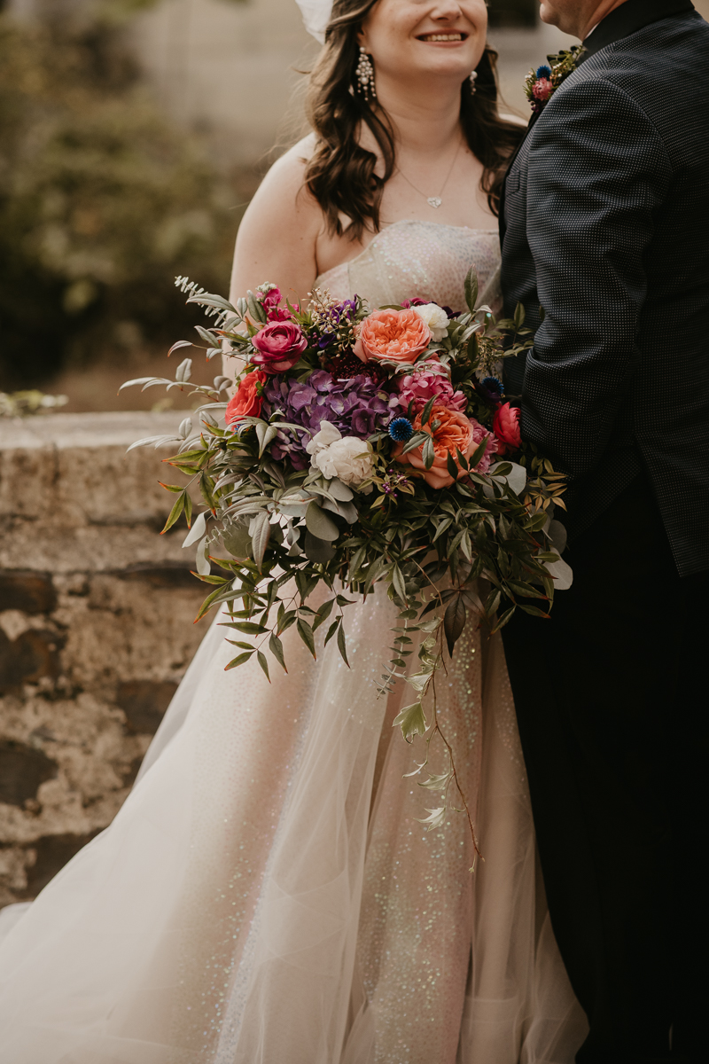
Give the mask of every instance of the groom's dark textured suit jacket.
<svg viewBox="0 0 709 1064">
<path fill-rule="evenodd" d="M 506 363 L 522 434 L 571 477 L 570 538 L 643 470 L 680 575 L 709 569 L 709 26 L 627 0 L 518 150 L 505 311 L 545 318 Z M 542 57 L 540 56 L 540 62 Z"/>
</svg>

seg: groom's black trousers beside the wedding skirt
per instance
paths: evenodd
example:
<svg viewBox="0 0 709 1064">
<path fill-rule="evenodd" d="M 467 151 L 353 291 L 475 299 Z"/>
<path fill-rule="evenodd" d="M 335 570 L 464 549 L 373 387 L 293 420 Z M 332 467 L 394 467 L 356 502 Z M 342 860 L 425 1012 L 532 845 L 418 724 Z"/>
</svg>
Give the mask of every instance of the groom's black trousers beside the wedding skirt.
<svg viewBox="0 0 709 1064">
<path fill-rule="evenodd" d="M 643 477 L 564 556 L 552 619 L 518 610 L 503 636 L 552 924 L 590 1023 L 576 1060 L 699 1064 L 709 575 L 677 576 Z"/>
</svg>

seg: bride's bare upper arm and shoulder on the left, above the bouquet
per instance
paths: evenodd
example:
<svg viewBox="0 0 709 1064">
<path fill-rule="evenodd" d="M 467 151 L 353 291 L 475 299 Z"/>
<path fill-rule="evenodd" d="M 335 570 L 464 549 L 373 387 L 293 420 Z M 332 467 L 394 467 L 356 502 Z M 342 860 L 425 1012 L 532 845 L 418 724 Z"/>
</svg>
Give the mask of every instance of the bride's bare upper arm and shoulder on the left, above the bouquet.
<svg viewBox="0 0 709 1064">
<path fill-rule="evenodd" d="M 230 299 L 235 302 L 258 284 L 277 284 L 291 302 L 307 298 L 318 275 L 316 245 L 322 212 L 303 185 L 311 136 L 274 163 L 243 216 L 234 249 Z M 223 360 L 233 377 L 237 359 Z"/>
</svg>

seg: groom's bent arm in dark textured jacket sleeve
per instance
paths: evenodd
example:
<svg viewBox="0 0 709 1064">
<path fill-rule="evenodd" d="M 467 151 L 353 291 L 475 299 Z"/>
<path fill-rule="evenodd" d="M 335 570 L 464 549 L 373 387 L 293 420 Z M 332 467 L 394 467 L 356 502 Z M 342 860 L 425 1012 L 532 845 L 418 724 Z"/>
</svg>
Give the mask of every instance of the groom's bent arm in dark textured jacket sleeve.
<svg viewBox="0 0 709 1064">
<path fill-rule="evenodd" d="M 545 318 L 522 435 L 575 479 L 597 465 L 638 367 L 644 255 L 672 168 L 644 112 L 603 80 L 569 85 L 531 138 L 527 239 Z"/>
</svg>

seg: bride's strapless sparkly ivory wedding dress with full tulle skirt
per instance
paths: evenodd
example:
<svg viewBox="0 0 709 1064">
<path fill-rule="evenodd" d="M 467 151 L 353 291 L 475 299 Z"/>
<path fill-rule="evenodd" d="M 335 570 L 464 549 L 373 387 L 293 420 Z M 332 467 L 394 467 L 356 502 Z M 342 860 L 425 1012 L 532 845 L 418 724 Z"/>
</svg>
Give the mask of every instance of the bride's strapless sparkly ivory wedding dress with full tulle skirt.
<svg viewBox="0 0 709 1064">
<path fill-rule="evenodd" d="M 402 221 L 318 284 L 460 310 L 496 233 Z M 476 815 L 438 796 L 374 679 L 393 608 L 345 612 L 314 662 L 225 672 L 205 636 L 114 822 L 5 911 L 2 1064 L 572 1064 L 586 1020 L 552 933 L 500 637 L 467 630 L 439 712 Z M 530 682 L 536 682 L 530 678 Z M 445 764 L 432 747 L 432 769 Z"/>
</svg>

